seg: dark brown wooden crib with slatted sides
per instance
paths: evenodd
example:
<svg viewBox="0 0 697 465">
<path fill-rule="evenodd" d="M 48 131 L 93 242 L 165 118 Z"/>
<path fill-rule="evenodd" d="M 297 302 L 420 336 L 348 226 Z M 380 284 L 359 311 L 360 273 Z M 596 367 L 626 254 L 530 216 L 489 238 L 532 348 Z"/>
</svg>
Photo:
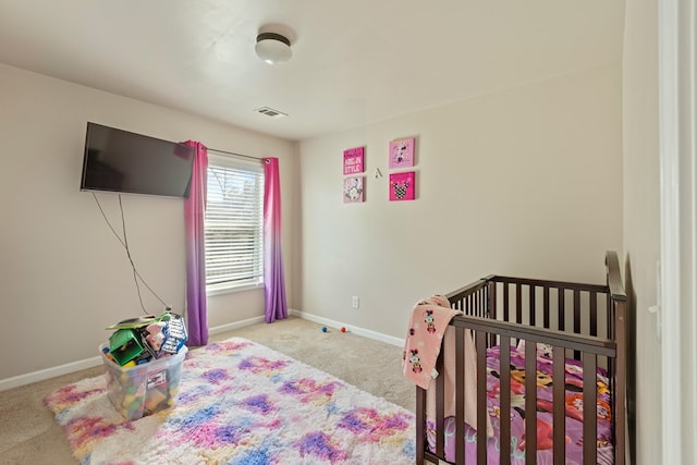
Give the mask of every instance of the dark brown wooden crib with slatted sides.
<svg viewBox="0 0 697 465">
<path fill-rule="evenodd" d="M 464 464 L 465 457 L 478 465 L 625 464 L 627 302 L 616 253 L 607 253 L 606 267 L 604 285 L 489 276 L 447 295 L 451 307 L 464 313 L 450 323 L 455 331 L 455 414 L 444 418 L 443 376 L 429 387 L 436 390 L 433 421 L 427 424 L 427 391 L 416 388 L 417 464 Z M 461 359 L 465 336 L 470 335 L 477 360 L 477 425 L 464 421 L 468 380 Z M 543 350 L 548 353 L 540 355 Z M 538 388 L 540 378 L 547 393 Z M 560 379 L 564 382 L 554 382 Z M 512 397 L 512 390 L 525 395 L 514 392 Z M 494 400 L 498 405 L 492 406 Z M 588 402 L 597 407 L 583 409 Z M 599 437 L 601 413 L 609 432 Z M 485 442 L 487 435 L 476 431 L 487 430 L 486 415 L 497 433 Z M 524 432 L 519 426 L 518 435 L 512 432 L 514 420 L 523 424 Z M 572 430 L 578 435 L 575 440 Z M 574 448 L 580 458 L 571 456 Z"/>
</svg>

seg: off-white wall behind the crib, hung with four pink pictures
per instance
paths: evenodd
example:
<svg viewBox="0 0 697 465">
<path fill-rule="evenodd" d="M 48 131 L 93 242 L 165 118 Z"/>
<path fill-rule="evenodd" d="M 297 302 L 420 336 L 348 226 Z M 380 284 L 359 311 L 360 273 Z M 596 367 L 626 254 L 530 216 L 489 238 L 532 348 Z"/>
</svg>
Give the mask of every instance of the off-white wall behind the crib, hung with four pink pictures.
<svg viewBox="0 0 697 465">
<path fill-rule="evenodd" d="M 417 299 L 489 273 L 602 283 L 622 249 L 621 86 L 616 63 L 303 142 L 299 308 L 403 338 Z M 417 199 L 390 203 L 388 143 L 407 136 Z M 343 204 L 356 146 L 367 199 Z"/>
</svg>

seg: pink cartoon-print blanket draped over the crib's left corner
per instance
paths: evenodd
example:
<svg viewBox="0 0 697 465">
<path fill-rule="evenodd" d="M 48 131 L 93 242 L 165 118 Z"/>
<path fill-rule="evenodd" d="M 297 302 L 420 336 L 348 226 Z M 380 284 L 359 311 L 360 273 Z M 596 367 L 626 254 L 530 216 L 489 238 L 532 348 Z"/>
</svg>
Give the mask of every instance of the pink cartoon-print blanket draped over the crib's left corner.
<svg viewBox="0 0 697 465">
<path fill-rule="evenodd" d="M 436 419 L 436 390 L 429 389 L 431 379 L 443 376 L 445 388 L 445 417 L 455 415 L 455 333 L 450 320 L 461 314 L 450 308 L 448 298 L 433 295 L 419 301 L 412 309 L 409 328 L 404 344 L 402 368 L 404 376 L 427 390 L 426 417 Z M 442 374 L 436 371 L 436 362 L 443 347 Z M 477 354 L 469 331 L 465 331 L 465 421 L 477 425 Z M 487 436 L 493 429 L 487 416 Z"/>
</svg>

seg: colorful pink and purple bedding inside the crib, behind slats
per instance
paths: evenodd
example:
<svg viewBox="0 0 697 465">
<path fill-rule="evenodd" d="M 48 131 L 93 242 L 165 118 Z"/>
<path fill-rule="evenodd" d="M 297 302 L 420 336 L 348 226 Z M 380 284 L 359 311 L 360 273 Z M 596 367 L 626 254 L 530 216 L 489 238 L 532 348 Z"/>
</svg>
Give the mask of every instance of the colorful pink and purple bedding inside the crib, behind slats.
<svg viewBox="0 0 697 465">
<path fill-rule="evenodd" d="M 487 350 L 487 408 L 494 435 L 487 441 L 489 463 L 500 463 L 499 431 L 499 347 Z M 537 357 L 537 463 L 552 463 L 552 359 L 538 350 Z M 567 465 L 583 463 L 583 366 L 579 362 L 567 359 L 565 367 L 565 400 L 566 400 L 566 461 Z M 608 390 L 607 371 L 598 369 L 597 376 L 597 431 L 599 464 L 612 464 L 612 430 L 610 392 Z M 511 351 L 511 463 L 525 463 L 525 354 L 523 347 Z M 435 424 L 430 420 L 426 425 L 428 446 L 436 450 Z M 455 461 L 455 421 L 453 417 L 445 418 L 445 460 Z M 465 462 L 476 463 L 477 431 L 465 426 Z"/>
</svg>

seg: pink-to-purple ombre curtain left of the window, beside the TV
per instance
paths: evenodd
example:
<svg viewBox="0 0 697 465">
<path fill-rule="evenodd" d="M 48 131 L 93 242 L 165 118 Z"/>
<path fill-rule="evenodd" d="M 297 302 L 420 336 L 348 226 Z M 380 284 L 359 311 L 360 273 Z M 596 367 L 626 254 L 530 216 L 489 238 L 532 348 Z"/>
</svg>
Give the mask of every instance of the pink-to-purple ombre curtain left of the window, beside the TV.
<svg viewBox="0 0 697 465">
<path fill-rule="evenodd" d="M 204 217 L 206 213 L 206 185 L 208 149 L 199 142 L 187 140 L 196 148 L 194 172 L 184 200 L 184 224 L 186 227 L 186 325 L 187 345 L 208 343 L 208 317 L 206 308 L 206 252 Z"/>
</svg>

